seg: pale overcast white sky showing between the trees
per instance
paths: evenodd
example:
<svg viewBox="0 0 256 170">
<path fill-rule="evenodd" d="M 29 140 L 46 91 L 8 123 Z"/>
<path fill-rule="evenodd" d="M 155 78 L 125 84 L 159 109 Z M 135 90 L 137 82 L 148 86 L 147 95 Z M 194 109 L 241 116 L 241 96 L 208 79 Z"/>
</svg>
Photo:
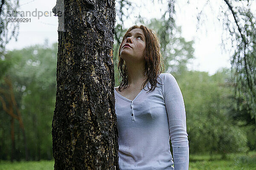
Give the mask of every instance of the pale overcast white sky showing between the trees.
<svg viewBox="0 0 256 170">
<path fill-rule="evenodd" d="M 187 4 L 187 0 L 179 0 L 175 7 L 175 21 L 178 26 L 182 27 L 181 36 L 187 41 L 195 41 L 193 46 L 195 48 L 195 59 L 189 65 L 189 69 L 207 71 L 209 75 L 212 75 L 219 68 L 230 68 L 230 54 L 221 48 L 221 35 L 227 33 L 222 30 L 222 24 L 217 20 L 219 6 L 224 5 L 223 0 L 211 0 L 212 8 L 204 6 L 200 0 L 190 1 L 193 3 Z M 155 1 L 155 4 L 149 3 L 148 0 L 131 0 L 131 2 L 138 6 L 146 6 L 140 8 L 140 10 L 133 10 L 131 14 L 136 16 L 136 11 L 140 11 L 140 14 L 147 19 L 151 17 L 160 18 L 167 8 L 166 4 L 157 5 L 157 1 Z M 138 4 L 140 2 L 141 4 Z M 54 0 L 20 0 L 18 11 L 36 11 L 34 14 L 37 13 L 37 17 L 27 17 L 31 18 L 31 22 L 20 23 L 17 41 L 11 40 L 6 49 L 21 49 L 30 45 L 44 44 L 46 39 L 49 44 L 58 42 L 58 18 L 51 14 L 48 17 L 42 16 L 38 19 L 38 11 L 47 11 L 50 14 L 55 4 Z M 202 23 L 199 23 L 200 29 L 197 29 L 197 14 L 202 8 L 204 8 L 204 14 L 201 15 L 203 20 Z M 135 19 L 135 17 L 131 17 L 131 20 L 125 22 L 125 27 L 128 28 L 134 25 Z"/>
</svg>

